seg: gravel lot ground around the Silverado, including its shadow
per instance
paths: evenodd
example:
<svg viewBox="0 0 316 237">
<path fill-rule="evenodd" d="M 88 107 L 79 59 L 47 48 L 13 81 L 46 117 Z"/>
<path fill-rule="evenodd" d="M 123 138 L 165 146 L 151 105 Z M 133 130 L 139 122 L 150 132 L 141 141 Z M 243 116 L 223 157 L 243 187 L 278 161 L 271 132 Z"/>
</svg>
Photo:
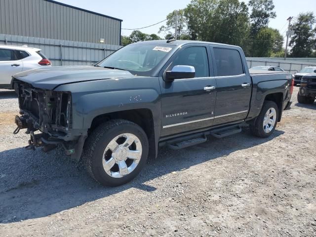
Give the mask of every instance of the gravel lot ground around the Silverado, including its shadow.
<svg viewBox="0 0 316 237">
<path fill-rule="evenodd" d="M 0 236 L 316 236 L 316 103 L 285 111 L 273 136 L 242 133 L 161 149 L 132 182 L 104 188 L 58 149 L 13 135 L 0 91 Z"/>
</svg>

